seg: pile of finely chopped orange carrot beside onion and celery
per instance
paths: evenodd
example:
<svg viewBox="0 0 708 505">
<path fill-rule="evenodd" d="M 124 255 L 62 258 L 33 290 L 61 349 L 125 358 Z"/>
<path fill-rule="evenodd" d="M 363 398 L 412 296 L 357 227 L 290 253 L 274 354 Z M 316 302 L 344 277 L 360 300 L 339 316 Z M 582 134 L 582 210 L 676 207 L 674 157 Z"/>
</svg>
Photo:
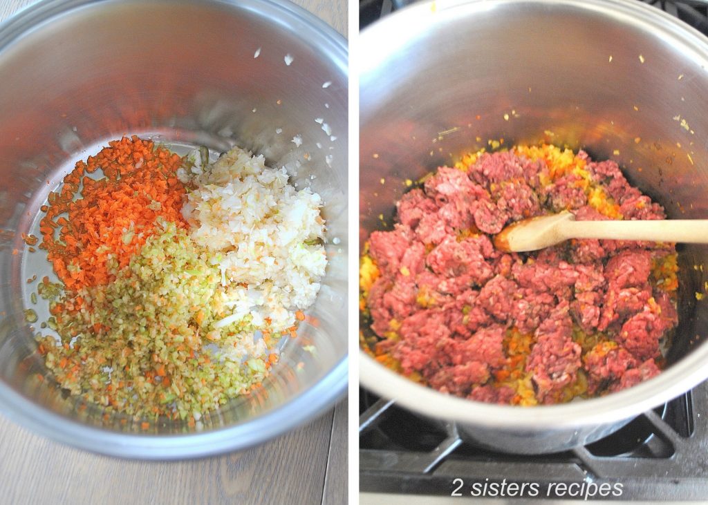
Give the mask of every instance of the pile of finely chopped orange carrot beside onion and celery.
<svg viewBox="0 0 708 505">
<path fill-rule="evenodd" d="M 135 159 L 142 161 L 139 167 L 132 163 Z M 119 267 L 128 265 L 154 232 L 158 217 L 181 228 L 188 226 L 181 214 L 185 188 L 174 177 L 180 164 L 176 154 L 136 136 L 111 141 L 96 156 L 76 163 L 64 178 L 62 191 L 50 193 L 40 226 L 47 258 L 68 289 L 78 291 L 112 281 L 109 255 L 118 260 Z M 98 168 L 103 168 L 105 178 L 88 184 L 84 179 L 81 198 L 72 202 L 80 176 Z M 154 202 L 159 207 L 153 207 Z M 64 212 L 68 219 L 53 219 Z M 55 228 L 60 228 L 58 239 Z"/>
</svg>

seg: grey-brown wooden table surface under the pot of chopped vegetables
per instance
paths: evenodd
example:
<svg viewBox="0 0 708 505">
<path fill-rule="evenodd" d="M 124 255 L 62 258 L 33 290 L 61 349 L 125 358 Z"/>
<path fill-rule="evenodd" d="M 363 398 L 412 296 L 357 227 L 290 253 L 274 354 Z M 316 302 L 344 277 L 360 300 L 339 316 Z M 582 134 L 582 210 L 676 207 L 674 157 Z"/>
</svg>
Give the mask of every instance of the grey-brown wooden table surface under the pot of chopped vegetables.
<svg viewBox="0 0 708 505">
<path fill-rule="evenodd" d="M 0 0 L 0 21 L 35 0 Z M 347 33 L 346 0 L 295 0 Z M 63 446 L 0 416 L 1 504 L 346 503 L 347 401 L 290 434 L 214 458 L 149 463 Z"/>
</svg>

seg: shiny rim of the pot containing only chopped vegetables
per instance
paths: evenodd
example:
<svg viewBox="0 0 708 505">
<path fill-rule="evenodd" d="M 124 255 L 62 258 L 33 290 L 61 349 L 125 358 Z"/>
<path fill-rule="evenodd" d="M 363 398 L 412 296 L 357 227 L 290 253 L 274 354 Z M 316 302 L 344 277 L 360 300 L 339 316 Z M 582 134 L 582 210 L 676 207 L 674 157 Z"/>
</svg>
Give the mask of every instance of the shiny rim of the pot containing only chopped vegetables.
<svg viewBox="0 0 708 505">
<path fill-rule="evenodd" d="M 43 23 L 78 8 L 118 3 L 120 0 L 41 0 L 0 23 L 0 52 Z M 348 77 L 348 44 L 343 35 L 290 1 L 200 0 L 194 4 L 265 13 L 269 21 L 287 26 L 302 40 L 324 52 L 326 59 Z M 120 458 L 175 460 L 240 450 L 273 439 L 331 407 L 345 395 L 347 383 L 348 356 L 345 355 L 314 385 L 284 404 L 234 426 L 190 434 L 125 434 L 89 426 L 36 404 L 4 381 L 0 381 L 0 411 L 20 426 L 76 448 Z"/>
</svg>

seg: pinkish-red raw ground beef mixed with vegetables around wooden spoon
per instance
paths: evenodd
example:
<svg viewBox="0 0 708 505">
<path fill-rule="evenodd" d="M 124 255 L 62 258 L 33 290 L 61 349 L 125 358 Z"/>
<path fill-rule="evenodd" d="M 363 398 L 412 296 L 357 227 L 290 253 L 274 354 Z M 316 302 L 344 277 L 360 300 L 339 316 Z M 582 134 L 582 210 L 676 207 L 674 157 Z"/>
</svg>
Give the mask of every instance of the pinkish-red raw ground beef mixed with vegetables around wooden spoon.
<svg viewBox="0 0 708 505">
<path fill-rule="evenodd" d="M 615 162 L 581 151 L 569 168 L 556 150 L 549 168 L 554 156 L 518 152 L 439 168 L 401 197 L 392 230 L 371 234 L 379 277 L 365 303 L 376 351 L 443 393 L 502 404 L 601 395 L 655 376 L 659 342 L 678 324 L 653 277 L 672 245 L 572 240 L 519 255 L 495 250 L 490 236 L 561 209 L 582 221 L 664 219 L 663 208 Z"/>
</svg>

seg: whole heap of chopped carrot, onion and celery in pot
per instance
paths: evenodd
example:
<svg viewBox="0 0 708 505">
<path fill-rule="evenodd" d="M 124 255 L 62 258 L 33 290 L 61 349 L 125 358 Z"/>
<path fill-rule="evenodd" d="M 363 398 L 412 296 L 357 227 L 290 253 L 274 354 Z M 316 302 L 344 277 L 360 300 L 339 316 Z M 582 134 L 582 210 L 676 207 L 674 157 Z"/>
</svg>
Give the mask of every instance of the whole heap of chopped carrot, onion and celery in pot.
<svg viewBox="0 0 708 505">
<path fill-rule="evenodd" d="M 42 207 L 40 248 L 60 280 L 39 284 L 47 367 L 136 419 L 193 424 L 249 394 L 319 291 L 320 207 L 242 149 L 210 163 L 205 148 L 180 158 L 135 136 L 110 142 Z"/>
</svg>

